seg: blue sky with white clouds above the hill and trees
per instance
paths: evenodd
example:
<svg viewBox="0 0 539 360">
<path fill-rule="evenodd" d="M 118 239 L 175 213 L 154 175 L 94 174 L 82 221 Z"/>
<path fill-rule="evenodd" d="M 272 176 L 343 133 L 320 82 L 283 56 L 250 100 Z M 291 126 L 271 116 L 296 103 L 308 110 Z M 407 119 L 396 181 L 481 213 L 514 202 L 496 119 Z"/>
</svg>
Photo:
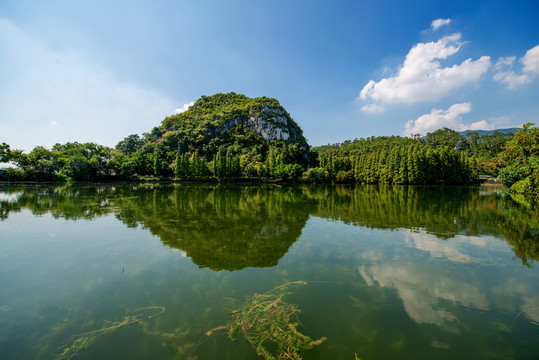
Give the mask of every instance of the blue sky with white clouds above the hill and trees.
<svg viewBox="0 0 539 360">
<path fill-rule="evenodd" d="M 0 2 L 0 143 L 114 147 L 202 95 L 313 146 L 539 124 L 539 1 Z"/>
</svg>

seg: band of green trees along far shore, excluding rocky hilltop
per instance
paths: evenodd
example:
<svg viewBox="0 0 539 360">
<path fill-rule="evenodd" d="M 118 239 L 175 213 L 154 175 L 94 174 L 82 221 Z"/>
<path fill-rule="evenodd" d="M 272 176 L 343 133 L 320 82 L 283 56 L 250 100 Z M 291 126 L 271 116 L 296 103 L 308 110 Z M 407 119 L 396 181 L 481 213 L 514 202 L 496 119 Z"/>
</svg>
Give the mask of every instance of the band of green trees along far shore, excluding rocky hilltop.
<svg viewBox="0 0 539 360">
<path fill-rule="evenodd" d="M 430 142 L 440 133 L 457 135 L 451 141 Z M 438 133 L 438 134 L 437 134 Z M 302 160 L 296 144 L 278 141 L 264 143 L 264 151 L 252 161 L 231 147 L 221 145 L 211 157 L 198 150 L 191 152 L 160 151 L 150 138 L 130 135 L 116 148 L 94 143 L 56 144 L 51 150 L 36 147 L 30 153 L 11 150 L 4 144 L 3 160 L 17 168 L 5 169 L 2 177 L 11 180 L 54 181 L 129 179 L 156 176 L 178 179 L 263 178 L 315 183 L 365 184 L 464 184 L 478 174 L 499 171 L 499 157 L 512 135 L 504 135 L 490 161 L 471 150 L 464 136 L 449 129 L 429 134 L 426 139 L 372 137 L 309 150 L 309 162 Z M 487 146 L 492 137 L 482 136 Z M 490 146 L 490 145 L 488 145 Z M 253 150 L 255 151 L 255 150 Z M 172 153 L 172 154 L 169 154 Z M 172 156 L 174 155 L 174 156 Z M 490 156 L 490 155 L 489 155 Z"/>
</svg>

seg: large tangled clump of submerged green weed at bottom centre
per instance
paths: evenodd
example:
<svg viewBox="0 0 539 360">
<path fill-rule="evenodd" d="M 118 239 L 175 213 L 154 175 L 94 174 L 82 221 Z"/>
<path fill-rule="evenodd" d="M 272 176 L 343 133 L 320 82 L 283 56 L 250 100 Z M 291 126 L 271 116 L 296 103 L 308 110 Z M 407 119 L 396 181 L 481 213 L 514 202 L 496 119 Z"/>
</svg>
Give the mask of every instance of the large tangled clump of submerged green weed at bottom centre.
<svg viewBox="0 0 539 360">
<path fill-rule="evenodd" d="M 313 340 L 298 331 L 300 310 L 297 305 L 283 300 L 290 294 L 288 288 L 297 284 L 307 283 L 289 282 L 264 294 L 254 294 L 239 309 L 231 312 L 230 322 L 211 329 L 206 335 L 226 331 L 228 338 L 235 341 L 239 334 L 266 360 L 301 359 L 299 353 L 302 350 L 320 345 L 326 338 Z"/>
</svg>

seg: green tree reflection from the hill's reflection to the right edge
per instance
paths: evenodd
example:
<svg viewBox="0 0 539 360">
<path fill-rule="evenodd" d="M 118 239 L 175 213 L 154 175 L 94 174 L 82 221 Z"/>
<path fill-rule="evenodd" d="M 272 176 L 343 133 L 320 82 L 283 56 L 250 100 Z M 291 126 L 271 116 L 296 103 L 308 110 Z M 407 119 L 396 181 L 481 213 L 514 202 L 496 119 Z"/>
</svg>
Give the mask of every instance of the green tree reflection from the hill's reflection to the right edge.
<svg viewBox="0 0 539 360">
<path fill-rule="evenodd" d="M 377 229 L 423 229 L 438 238 L 503 236 L 523 264 L 539 261 L 539 208 L 472 187 L 311 187 L 315 215 Z"/>
</svg>

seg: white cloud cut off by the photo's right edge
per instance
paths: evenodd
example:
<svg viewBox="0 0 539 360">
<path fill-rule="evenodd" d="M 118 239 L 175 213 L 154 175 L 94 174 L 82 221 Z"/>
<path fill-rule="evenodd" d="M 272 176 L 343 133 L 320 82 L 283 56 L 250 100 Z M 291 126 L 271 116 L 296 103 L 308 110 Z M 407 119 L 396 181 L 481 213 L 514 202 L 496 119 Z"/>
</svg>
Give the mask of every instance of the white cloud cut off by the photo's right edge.
<svg viewBox="0 0 539 360">
<path fill-rule="evenodd" d="M 496 73 L 493 79 L 505 84 L 508 89 L 516 89 L 530 83 L 539 74 L 539 45 L 528 50 L 520 59 L 522 73 L 513 70 L 516 59 L 516 56 L 502 57 L 494 66 Z"/>
</svg>

